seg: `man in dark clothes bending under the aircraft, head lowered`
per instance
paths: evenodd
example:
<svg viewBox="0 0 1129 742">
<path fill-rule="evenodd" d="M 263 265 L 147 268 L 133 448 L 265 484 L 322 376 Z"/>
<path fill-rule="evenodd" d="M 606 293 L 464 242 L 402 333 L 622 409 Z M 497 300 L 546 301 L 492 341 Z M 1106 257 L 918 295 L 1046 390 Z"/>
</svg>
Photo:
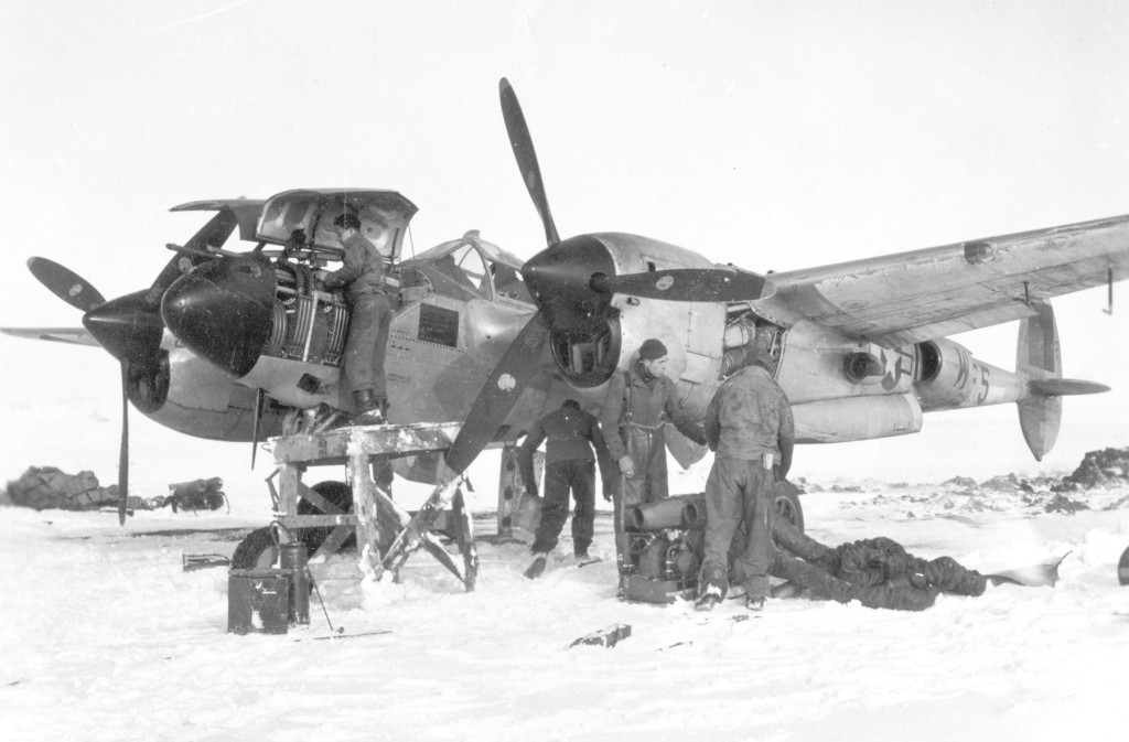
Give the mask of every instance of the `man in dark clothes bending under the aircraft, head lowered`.
<svg viewBox="0 0 1129 742">
<path fill-rule="evenodd" d="M 568 517 L 568 495 L 572 491 L 576 510 L 572 513 L 572 552 L 578 565 L 595 561 L 588 555 L 592 544 L 593 524 L 596 518 L 596 466 L 599 459 L 601 478 L 604 480 L 604 498 L 611 499 L 610 480 L 614 465 L 607 455 L 604 436 L 596 418 L 583 409 L 576 400 L 564 400 L 559 410 L 537 420 L 525 440 L 517 447 L 517 465 L 522 472 L 525 490 L 537 494 L 537 480 L 533 474 L 533 452 L 542 440 L 545 443 L 545 499 L 541 505 L 541 522 L 534 534 L 533 562 L 525 576 L 534 579 L 545 569 L 545 558 L 557 547 L 557 538 Z M 595 456 L 593 455 L 595 447 Z"/>
</svg>

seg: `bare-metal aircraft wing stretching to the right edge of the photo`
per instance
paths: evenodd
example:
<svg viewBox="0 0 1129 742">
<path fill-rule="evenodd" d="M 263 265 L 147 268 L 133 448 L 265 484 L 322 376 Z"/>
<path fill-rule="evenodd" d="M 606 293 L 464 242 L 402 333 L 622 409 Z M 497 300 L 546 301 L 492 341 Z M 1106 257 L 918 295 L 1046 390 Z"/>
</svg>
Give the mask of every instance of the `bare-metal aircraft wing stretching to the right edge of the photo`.
<svg viewBox="0 0 1129 742">
<path fill-rule="evenodd" d="M 1129 277 L 1129 215 L 772 273 L 758 306 L 894 348 L 1033 316 L 1036 299 Z"/>
</svg>

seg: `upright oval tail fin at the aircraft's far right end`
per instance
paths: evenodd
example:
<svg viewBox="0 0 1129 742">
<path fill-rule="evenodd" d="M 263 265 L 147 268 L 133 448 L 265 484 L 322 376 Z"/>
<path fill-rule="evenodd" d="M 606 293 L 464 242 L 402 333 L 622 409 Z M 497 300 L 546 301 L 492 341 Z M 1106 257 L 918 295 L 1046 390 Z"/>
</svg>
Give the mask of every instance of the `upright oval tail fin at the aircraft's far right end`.
<svg viewBox="0 0 1129 742">
<path fill-rule="evenodd" d="M 1032 302 L 1035 316 L 1019 322 L 1015 373 L 1026 382 L 1059 378 L 1062 375 L 1062 353 L 1059 350 L 1054 309 L 1050 304 Z M 1062 398 L 1035 394 L 1016 402 L 1019 407 L 1019 428 L 1023 439 L 1036 461 L 1054 447 L 1059 422 L 1062 419 Z"/>
</svg>

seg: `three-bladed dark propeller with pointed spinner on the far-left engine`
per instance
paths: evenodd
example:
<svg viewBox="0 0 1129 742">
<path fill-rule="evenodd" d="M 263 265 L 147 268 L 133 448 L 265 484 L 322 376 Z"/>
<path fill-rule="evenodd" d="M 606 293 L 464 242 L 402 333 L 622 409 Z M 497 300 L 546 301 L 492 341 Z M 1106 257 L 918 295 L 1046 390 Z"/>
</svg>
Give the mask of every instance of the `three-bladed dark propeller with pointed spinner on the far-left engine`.
<svg viewBox="0 0 1129 742">
<path fill-rule="evenodd" d="M 222 244 L 237 226 L 235 215 L 220 211 L 187 242 L 204 251 Z M 122 438 L 117 459 L 117 522 L 125 524 L 130 479 L 130 400 L 145 411 L 159 409 L 168 392 L 167 352 L 160 348 L 165 324 L 160 298 L 165 290 L 204 259 L 174 256 L 148 289 L 106 300 L 89 281 L 70 269 L 47 260 L 30 257 L 27 268 L 47 290 L 84 312 L 82 325 L 116 358 L 122 370 Z M 132 392 L 132 393 L 131 393 Z"/>
</svg>

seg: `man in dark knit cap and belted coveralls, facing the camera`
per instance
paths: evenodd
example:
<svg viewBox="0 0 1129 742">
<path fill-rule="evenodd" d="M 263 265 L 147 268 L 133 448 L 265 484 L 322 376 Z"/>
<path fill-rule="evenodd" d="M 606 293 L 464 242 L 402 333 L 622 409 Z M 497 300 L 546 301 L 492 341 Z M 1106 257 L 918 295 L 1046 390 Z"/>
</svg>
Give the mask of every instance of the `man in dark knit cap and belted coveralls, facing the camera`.
<svg viewBox="0 0 1129 742">
<path fill-rule="evenodd" d="M 612 376 L 601 414 L 607 451 L 612 460 L 619 462 L 621 472 L 614 489 L 620 576 L 631 570 L 631 540 L 623 532 L 623 513 L 628 507 L 654 503 L 668 495 L 664 422 L 673 422 L 694 443 L 706 443 L 702 426 L 682 409 L 674 382 L 666 377 L 668 360 L 666 346 L 660 340 L 644 341 L 638 358 L 628 369 Z"/>
</svg>

